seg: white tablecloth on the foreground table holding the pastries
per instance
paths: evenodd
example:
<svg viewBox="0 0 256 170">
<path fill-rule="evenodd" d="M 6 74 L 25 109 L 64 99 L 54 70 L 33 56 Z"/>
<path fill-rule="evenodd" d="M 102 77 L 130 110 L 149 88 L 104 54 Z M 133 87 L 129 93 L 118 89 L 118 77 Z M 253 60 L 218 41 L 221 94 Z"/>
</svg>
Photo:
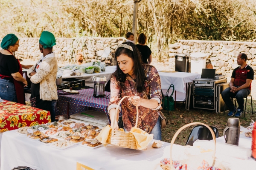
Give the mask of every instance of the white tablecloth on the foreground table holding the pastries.
<svg viewBox="0 0 256 170">
<path fill-rule="evenodd" d="M 1 170 L 28 166 L 36 170 L 76 170 L 76 162 L 95 170 L 162 170 L 160 160 L 169 157 L 170 143 L 160 149 L 132 150 L 108 145 L 87 149 L 79 144 L 65 150 L 55 149 L 32 141 L 14 130 L 3 133 L 1 144 Z M 174 153 L 183 146 L 175 145 Z"/>
</svg>

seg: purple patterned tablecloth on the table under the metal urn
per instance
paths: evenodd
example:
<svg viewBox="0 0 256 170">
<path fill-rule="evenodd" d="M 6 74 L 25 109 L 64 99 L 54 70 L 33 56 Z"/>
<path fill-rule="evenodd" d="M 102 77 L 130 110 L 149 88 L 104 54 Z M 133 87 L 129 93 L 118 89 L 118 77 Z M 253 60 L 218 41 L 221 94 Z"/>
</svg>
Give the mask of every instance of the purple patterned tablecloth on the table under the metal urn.
<svg viewBox="0 0 256 170">
<path fill-rule="evenodd" d="M 108 103 L 110 99 L 107 99 L 107 96 L 110 97 L 110 92 L 105 91 L 105 97 L 93 97 L 92 88 L 82 89 L 78 91 L 79 94 L 58 95 L 58 110 L 61 115 L 68 113 L 68 102 L 70 102 L 70 115 L 75 113 L 81 113 L 87 110 L 101 111 L 105 112 L 106 114 L 108 113 Z M 58 113 L 56 114 L 58 115 Z"/>
</svg>

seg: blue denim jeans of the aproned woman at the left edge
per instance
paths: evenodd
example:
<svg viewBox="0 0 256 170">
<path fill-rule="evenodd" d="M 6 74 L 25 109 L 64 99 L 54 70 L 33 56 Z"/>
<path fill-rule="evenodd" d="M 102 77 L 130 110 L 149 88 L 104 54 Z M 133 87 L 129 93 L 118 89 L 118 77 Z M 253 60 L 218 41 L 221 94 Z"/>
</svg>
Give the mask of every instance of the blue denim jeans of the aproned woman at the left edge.
<svg viewBox="0 0 256 170">
<path fill-rule="evenodd" d="M 10 80 L 0 79 L 0 97 L 11 102 L 17 102 L 14 83 Z"/>
</svg>

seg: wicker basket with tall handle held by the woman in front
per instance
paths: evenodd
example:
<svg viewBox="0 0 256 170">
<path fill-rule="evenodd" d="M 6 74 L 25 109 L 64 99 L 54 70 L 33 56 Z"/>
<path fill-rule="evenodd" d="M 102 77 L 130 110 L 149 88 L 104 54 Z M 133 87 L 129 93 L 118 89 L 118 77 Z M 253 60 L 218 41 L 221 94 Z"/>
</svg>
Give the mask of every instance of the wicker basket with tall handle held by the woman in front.
<svg viewBox="0 0 256 170">
<path fill-rule="evenodd" d="M 123 99 L 125 99 L 126 97 L 131 98 L 130 96 L 124 96 L 120 100 L 120 102 L 116 106 L 116 112 L 115 112 L 114 120 L 116 120 L 119 105 L 121 104 Z M 138 117 L 139 117 L 139 110 L 138 110 L 137 106 L 136 106 L 136 111 L 137 111 L 137 116 L 136 116 L 135 127 L 137 127 L 137 125 L 138 125 Z M 108 144 L 113 144 L 113 145 L 116 145 L 116 146 L 120 146 L 120 147 L 138 149 L 137 145 L 136 145 L 135 137 L 132 133 L 130 133 L 130 132 L 127 133 L 127 132 L 124 132 L 124 131 L 121 131 L 121 130 L 113 130 L 113 128 L 112 128 L 111 132 L 108 135 L 107 143 Z"/>
</svg>

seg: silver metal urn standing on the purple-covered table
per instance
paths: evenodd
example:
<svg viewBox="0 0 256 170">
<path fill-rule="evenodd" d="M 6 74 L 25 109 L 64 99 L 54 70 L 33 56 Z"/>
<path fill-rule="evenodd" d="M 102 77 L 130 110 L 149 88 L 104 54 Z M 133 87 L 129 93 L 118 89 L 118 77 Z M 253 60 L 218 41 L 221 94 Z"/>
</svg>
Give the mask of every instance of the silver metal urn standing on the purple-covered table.
<svg viewBox="0 0 256 170">
<path fill-rule="evenodd" d="M 105 82 L 107 81 L 105 76 L 94 76 L 93 77 L 93 96 L 94 97 L 105 97 Z"/>
</svg>

